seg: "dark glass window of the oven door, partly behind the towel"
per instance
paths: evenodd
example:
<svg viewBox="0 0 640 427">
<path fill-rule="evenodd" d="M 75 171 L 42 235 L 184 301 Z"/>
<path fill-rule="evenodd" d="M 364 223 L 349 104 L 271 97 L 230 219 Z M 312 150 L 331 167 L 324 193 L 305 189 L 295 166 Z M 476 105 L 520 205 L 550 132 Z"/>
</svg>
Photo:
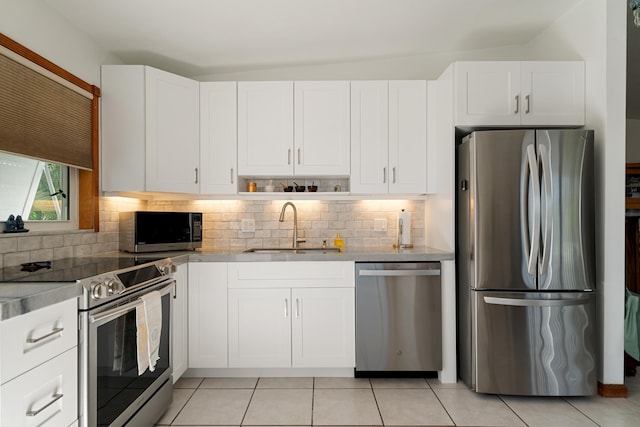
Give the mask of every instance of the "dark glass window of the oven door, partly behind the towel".
<svg viewBox="0 0 640 427">
<path fill-rule="evenodd" d="M 110 425 L 169 368 L 171 294 L 162 297 L 160 359 L 153 372 L 138 376 L 136 311 L 132 310 L 97 329 L 98 425 Z"/>
</svg>

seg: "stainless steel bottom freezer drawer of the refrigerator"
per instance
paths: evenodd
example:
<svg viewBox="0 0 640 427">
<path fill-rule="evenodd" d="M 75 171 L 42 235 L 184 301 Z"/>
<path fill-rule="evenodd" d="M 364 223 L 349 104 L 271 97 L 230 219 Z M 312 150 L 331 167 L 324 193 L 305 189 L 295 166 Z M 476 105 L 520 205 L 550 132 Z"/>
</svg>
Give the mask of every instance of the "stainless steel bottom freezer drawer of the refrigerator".
<svg viewBox="0 0 640 427">
<path fill-rule="evenodd" d="M 472 293 L 476 391 L 596 393 L 595 292 Z"/>
</svg>

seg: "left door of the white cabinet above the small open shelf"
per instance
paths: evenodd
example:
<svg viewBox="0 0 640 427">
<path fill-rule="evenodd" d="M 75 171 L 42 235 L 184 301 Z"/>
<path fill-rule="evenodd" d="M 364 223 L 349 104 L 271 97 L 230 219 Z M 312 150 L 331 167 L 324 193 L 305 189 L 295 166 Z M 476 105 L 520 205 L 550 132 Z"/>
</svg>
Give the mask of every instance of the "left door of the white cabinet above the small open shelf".
<svg viewBox="0 0 640 427">
<path fill-rule="evenodd" d="M 238 82 L 238 174 L 293 173 L 293 82 Z"/>
</svg>

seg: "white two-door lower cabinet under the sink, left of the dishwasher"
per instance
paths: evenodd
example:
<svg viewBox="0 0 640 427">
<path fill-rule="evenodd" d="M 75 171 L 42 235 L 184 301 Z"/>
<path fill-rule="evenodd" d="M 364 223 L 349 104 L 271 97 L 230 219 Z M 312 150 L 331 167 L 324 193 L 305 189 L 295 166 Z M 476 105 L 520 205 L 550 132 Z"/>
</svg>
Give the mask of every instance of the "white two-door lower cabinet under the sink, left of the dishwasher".
<svg viewBox="0 0 640 427">
<path fill-rule="evenodd" d="M 230 368 L 355 366 L 352 262 L 229 264 Z"/>
</svg>

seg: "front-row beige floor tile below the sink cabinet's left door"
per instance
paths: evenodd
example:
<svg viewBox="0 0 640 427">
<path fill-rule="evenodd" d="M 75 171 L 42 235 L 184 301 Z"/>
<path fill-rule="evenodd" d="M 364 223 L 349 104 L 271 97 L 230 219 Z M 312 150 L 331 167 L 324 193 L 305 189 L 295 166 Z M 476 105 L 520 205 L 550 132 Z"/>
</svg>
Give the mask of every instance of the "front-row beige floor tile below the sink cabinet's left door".
<svg viewBox="0 0 640 427">
<path fill-rule="evenodd" d="M 311 425 L 311 389 L 257 389 L 243 425 Z"/>
</svg>

